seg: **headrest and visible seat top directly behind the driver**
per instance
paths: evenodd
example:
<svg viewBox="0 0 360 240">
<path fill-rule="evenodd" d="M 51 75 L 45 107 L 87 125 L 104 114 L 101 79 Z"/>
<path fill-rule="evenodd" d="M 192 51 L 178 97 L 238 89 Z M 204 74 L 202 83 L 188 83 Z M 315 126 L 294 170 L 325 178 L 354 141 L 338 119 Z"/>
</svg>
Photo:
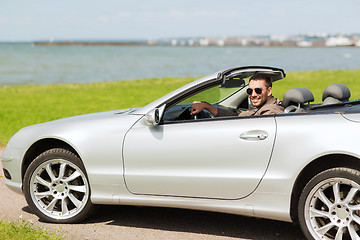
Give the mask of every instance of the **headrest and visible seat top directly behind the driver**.
<svg viewBox="0 0 360 240">
<path fill-rule="evenodd" d="M 288 90 L 283 97 L 284 113 L 305 112 L 305 108 L 314 101 L 314 95 L 305 87 L 297 87 Z"/>
</svg>

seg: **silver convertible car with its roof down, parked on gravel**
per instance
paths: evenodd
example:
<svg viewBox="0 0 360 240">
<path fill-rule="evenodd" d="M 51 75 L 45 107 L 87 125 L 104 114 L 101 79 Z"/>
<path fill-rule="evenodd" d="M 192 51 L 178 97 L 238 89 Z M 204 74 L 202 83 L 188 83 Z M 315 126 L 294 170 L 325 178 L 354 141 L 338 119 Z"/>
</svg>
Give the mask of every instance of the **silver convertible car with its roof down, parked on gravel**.
<svg viewBox="0 0 360 240">
<path fill-rule="evenodd" d="M 360 101 L 347 86 L 328 86 L 317 104 L 309 89 L 289 89 L 276 115 L 190 115 L 194 100 L 251 109 L 255 73 L 286 76 L 231 68 L 145 107 L 25 127 L 1 156 L 5 184 L 49 222 L 81 221 L 95 204 L 163 206 L 299 223 L 308 239 L 360 239 Z"/>
</svg>

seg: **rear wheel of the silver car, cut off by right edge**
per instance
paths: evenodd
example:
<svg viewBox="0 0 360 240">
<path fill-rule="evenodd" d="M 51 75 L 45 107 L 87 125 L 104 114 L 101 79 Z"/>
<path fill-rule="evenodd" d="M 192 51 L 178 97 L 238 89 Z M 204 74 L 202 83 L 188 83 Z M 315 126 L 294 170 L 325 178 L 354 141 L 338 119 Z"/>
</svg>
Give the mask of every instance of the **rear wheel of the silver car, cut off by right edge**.
<svg viewBox="0 0 360 240">
<path fill-rule="evenodd" d="M 360 239 L 360 172 L 332 168 L 303 189 L 299 223 L 307 239 Z"/>
</svg>

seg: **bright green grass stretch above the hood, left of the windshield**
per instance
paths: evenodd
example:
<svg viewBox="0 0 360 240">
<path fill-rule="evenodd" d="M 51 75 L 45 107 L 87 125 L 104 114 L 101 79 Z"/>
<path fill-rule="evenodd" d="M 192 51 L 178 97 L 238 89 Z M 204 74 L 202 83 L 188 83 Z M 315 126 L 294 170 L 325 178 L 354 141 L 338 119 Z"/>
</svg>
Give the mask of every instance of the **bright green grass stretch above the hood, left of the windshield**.
<svg viewBox="0 0 360 240">
<path fill-rule="evenodd" d="M 0 87 L 0 145 L 22 127 L 79 114 L 141 107 L 193 80 Z"/>
</svg>

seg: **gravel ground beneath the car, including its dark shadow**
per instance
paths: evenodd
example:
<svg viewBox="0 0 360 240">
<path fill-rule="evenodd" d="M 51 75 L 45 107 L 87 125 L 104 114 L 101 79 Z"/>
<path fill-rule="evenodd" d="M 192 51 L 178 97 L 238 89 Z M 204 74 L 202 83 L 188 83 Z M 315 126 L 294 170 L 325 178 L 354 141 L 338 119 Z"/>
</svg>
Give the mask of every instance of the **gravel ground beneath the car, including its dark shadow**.
<svg viewBox="0 0 360 240">
<path fill-rule="evenodd" d="M 0 147 L 0 154 L 2 150 Z M 4 177 L 0 177 L 0 193 L 1 220 L 30 221 L 34 226 L 58 230 L 66 239 L 304 239 L 299 227 L 291 223 L 172 208 L 98 206 L 84 222 L 49 224 L 39 221 L 24 196 L 5 186 Z"/>
</svg>

